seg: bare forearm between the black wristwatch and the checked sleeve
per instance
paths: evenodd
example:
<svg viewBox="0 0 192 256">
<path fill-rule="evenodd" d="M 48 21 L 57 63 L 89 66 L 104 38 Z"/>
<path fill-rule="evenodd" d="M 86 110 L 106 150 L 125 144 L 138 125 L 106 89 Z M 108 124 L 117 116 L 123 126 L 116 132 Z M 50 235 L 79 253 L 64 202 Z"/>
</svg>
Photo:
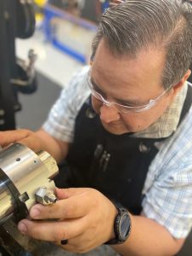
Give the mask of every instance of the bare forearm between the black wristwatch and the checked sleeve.
<svg viewBox="0 0 192 256">
<path fill-rule="evenodd" d="M 123 256 L 174 255 L 182 247 L 184 239 L 176 240 L 160 224 L 143 216 L 132 217 L 132 230 L 127 241 L 113 246 Z"/>
</svg>

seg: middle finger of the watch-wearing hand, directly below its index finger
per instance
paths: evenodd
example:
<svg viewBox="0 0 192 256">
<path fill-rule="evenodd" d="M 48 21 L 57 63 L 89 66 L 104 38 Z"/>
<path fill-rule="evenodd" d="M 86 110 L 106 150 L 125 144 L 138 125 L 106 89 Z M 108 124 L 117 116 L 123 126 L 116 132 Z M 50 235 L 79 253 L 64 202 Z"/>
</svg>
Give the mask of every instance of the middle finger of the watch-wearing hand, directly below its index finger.
<svg viewBox="0 0 192 256">
<path fill-rule="evenodd" d="M 23 219 L 18 224 L 22 234 L 42 241 L 62 241 L 79 236 L 88 227 L 86 218 L 76 218 L 62 222 L 36 222 Z"/>
</svg>

